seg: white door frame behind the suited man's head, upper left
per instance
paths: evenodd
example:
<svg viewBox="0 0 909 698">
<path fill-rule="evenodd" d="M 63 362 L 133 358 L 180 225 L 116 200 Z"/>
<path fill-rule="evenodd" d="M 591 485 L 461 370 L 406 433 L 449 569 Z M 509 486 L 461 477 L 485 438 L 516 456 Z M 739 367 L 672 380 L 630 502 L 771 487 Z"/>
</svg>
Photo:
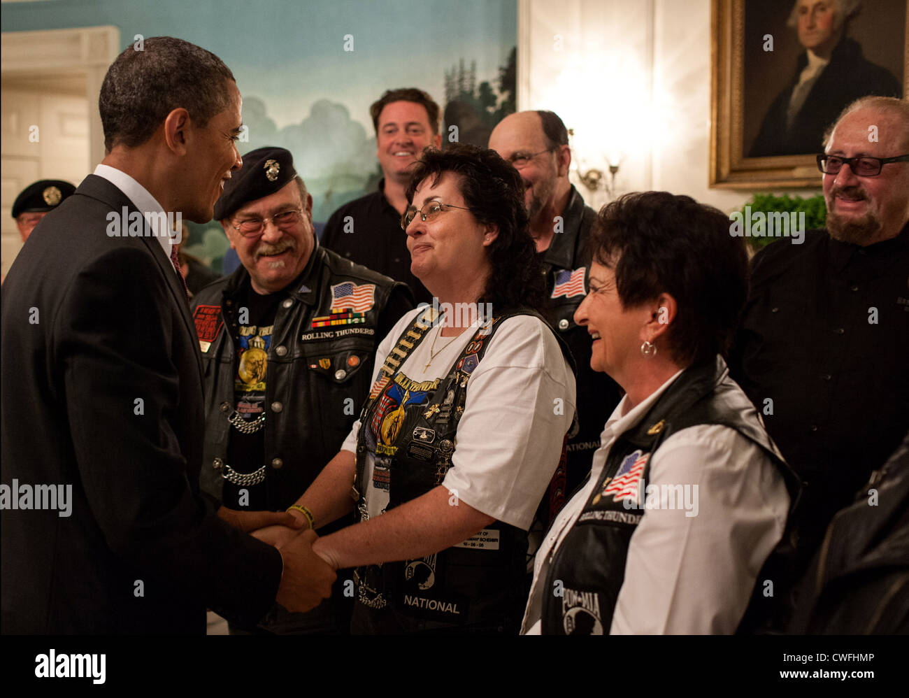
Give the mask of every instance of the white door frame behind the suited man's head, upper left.
<svg viewBox="0 0 909 698">
<path fill-rule="evenodd" d="M 119 54 L 120 30 L 112 25 L 0 34 L 0 66 L 4 77 L 47 73 L 85 75 L 88 155 L 92 169 L 105 156 L 98 95 L 107 68 Z"/>
</svg>

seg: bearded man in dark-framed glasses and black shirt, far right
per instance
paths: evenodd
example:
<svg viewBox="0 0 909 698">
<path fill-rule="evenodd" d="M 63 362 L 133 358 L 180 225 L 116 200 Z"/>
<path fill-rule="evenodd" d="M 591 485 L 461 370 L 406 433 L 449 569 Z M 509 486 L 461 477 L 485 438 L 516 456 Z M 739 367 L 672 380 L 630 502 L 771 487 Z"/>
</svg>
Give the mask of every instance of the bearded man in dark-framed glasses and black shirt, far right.
<svg viewBox="0 0 909 698">
<path fill-rule="evenodd" d="M 863 97 L 818 155 L 826 230 L 754 257 L 730 366 L 806 481 L 798 573 L 909 429 L 909 104 Z M 774 582 L 779 598 L 779 580 Z"/>
</svg>

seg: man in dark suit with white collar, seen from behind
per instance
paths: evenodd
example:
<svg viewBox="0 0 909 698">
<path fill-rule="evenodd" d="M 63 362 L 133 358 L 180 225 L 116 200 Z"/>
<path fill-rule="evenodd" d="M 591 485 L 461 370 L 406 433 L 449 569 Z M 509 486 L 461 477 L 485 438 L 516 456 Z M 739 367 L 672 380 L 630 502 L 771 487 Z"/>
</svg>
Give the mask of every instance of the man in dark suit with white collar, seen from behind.
<svg viewBox="0 0 909 698">
<path fill-rule="evenodd" d="M 99 105 L 103 164 L 3 288 L 3 632 L 204 633 L 206 605 L 238 623 L 275 600 L 308 610 L 335 578 L 315 534 L 276 551 L 241 531 L 293 517 L 216 513 L 196 486 L 202 364 L 170 230 L 210 220 L 241 165 L 234 76 L 155 37 L 117 57 Z"/>
</svg>

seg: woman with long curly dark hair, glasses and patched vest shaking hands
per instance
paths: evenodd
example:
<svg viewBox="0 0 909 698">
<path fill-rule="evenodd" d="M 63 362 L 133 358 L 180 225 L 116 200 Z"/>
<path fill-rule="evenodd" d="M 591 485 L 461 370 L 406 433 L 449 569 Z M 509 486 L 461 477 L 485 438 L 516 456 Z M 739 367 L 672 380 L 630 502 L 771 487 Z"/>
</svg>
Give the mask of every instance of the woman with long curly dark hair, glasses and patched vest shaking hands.
<svg viewBox="0 0 909 698">
<path fill-rule="evenodd" d="M 514 167 L 485 148 L 426 150 L 407 200 L 411 270 L 434 304 L 379 345 L 359 421 L 295 506 L 315 527 L 356 507 L 359 523 L 313 546 L 357 568 L 353 632 L 517 633 L 574 374 L 534 312 L 543 274 Z"/>
</svg>

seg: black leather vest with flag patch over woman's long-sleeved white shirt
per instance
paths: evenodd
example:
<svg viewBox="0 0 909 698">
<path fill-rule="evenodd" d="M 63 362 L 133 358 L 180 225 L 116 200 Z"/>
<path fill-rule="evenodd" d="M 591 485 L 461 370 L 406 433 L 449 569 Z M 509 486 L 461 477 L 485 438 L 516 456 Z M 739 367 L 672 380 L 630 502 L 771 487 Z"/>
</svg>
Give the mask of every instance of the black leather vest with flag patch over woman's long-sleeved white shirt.
<svg viewBox="0 0 909 698">
<path fill-rule="evenodd" d="M 715 364 L 688 368 L 636 426 L 615 439 L 596 486 L 549 566 L 543 634 L 609 633 L 628 544 L 646 511 L 640 481 L 650 481 L 651 459 L 669 436 L 697 424 L 728 426 L 760 446 L 793 491 L 794 474 L 764 429 L 738 412 L 721 411 L 714 390 L 723 375 Z M 683 504 L 684 499 L 676 500 L 676 506 Z"/>
</svg>

